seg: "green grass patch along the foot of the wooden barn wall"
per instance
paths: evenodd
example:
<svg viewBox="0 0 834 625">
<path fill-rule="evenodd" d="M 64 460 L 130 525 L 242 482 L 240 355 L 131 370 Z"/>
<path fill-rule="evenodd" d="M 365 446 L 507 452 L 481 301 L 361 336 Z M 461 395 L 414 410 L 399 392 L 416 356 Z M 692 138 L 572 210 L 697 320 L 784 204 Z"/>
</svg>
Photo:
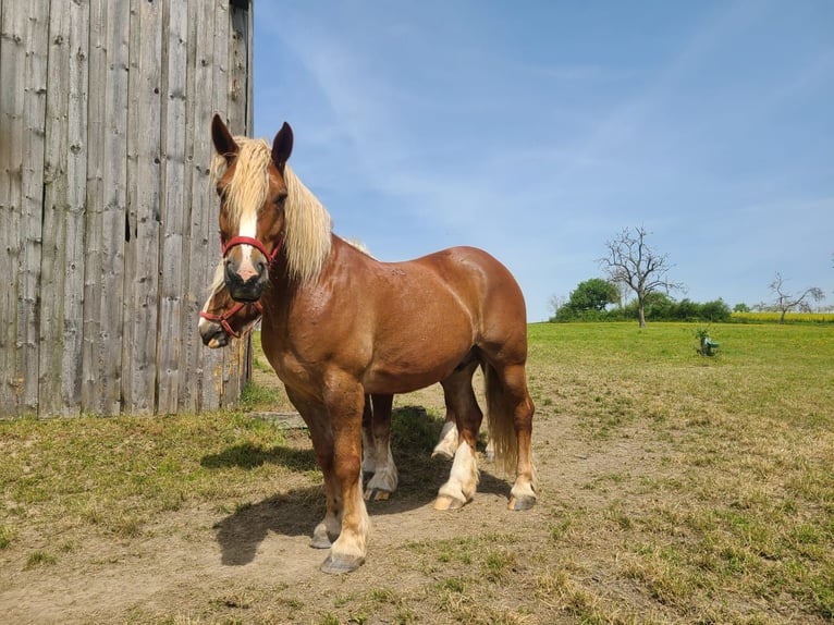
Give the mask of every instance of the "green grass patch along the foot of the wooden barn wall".
<svg viewBox="0 0 834 625">
<path fill-rule="evenodd" d="M 265 478 L 315 466 L 284 443 L 242 413 L 2 421 L 0 547 L 24 526 L 133 538 L 184 505 L 267 492 Z"/>
</svg>

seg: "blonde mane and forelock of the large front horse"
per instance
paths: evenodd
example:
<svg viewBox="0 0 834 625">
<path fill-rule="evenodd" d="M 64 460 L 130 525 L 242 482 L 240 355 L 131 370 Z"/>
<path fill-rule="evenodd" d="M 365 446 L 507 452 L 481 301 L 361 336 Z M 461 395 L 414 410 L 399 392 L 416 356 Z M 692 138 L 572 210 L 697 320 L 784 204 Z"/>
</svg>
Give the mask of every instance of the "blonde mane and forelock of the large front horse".
<svg viewBox="0 0 834 625">
<path fill-rule="evenodd" d="M 269 193 L 269 164 L 272 150 L 263 139 L 234 137 L 240 147 L 234 177 L 225 189 L 225 206 L 234 226 L 248 211 L 259 210 Z M 222 177 L 226 160 L 216 154 L 211 159 L 212 184 Z M 284 166 L 287 197 L 284 203 L 284 254 L 290 277 L 301 282 L 318 278 L 330 256 L 330 213 L 298 180 L 290 166 Z M 213 292 L 213 291 L 212 291 Z"/>
</svg>

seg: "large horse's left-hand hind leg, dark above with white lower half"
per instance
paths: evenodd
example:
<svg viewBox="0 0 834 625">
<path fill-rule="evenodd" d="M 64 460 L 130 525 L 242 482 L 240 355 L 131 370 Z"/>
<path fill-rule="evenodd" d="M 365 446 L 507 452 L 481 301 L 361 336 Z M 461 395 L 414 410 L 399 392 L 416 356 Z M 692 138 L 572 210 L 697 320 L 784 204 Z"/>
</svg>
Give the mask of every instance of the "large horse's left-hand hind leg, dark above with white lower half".
<svg viewBox="0 0 834 625">
<path fill-rule="evenodd" d="M 441 382 L 446 405 L 455 415 L 459 438 L 449 480 L 438 491 L 438 499 L 434 501 L 436 510 L 454 510 L 464 506 L 471 501 L 478 487 L 475 444 L 483 414 L 473 391 L 473 373 L 477 367 L 477 361 L 469 363 Z"/>
</svg>

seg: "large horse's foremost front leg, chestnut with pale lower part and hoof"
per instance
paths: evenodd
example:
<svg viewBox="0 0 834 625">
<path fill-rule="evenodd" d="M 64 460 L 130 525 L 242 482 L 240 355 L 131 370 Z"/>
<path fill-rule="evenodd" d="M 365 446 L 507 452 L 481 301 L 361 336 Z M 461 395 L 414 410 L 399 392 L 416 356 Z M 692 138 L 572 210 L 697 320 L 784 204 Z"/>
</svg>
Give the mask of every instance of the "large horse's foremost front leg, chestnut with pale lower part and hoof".
<svg viewBox="0 0 834 625">
<path fill-rule="evenodd" d="M 321 564 L 324 573 L 348 573 L 365 562 L 370 522 L 361 493 L 361 385 L 347 376 L 328 381 L 324 403 L 333 434 L 333 477 L 339 491 L 339 538 Z M 326 478 L 327 479 L 327 478 Z"/>
</svg>

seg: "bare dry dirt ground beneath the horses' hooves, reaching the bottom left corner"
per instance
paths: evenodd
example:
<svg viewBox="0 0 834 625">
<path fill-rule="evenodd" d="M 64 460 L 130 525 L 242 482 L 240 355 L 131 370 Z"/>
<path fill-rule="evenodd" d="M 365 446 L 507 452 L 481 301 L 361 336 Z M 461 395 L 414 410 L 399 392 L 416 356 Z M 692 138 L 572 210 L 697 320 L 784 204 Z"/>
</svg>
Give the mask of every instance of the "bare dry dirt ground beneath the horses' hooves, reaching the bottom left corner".
<svg viewBox="0 0 834 625">
<path fill-rule="evenodd" d="M 438 387 L 396 403 L 438 412 L 443 405 Z M 309 445 L 301 433 L 293 441 L 299 449 Z M 589 549 L 581 555 L 567 547 L 561 552 L 552 538 L 554 524 L 568 506 L 601 506 L 612 497 L 610 490 L 587 488 L 594 477 L 639 475 L 662 450 L 635 448 L 628 437 L 594 450 L 571 417 L 543 408 L 535 451 L 541 498 L 532 511 L 506 510 L 510 482 L 482 459 L 475 500 L 461 511 L 440 513 L 432 501 L 450 463 L 428 454 L 402 461 L 395 449 L 400 490 L 389 501 L 369 504 L 367 561 L 351 575 L 319 572 L 326 553 L 308 543 L 323 510 L 321 488 L 299 475 L 296 485 L 281 485 L 278 494 L 242 510 L 182 508 L 135 538 L 75 546 L 50 566 L 7 560 L 0 572 L 0 622 L 572 623 L 564 599 L 549 595 L 549 572 L 568 566 L 584 584 L 603 585 L 616 554 Z M 425 465 L 432 479 L 426 479 Z M 444 539 L 451 555 L 420 547 Z M 474 556 L 461 554 L 466 544 Z M 504 554 L 508 565 L 480 589 L 473 580 L 490 575 L 478 554 L 483 550 Z M 466 591 L 447 591 L 455 579 Z M 631 595 L 627 588 L 615 592 Z M 470 604 L 455 605 L 455 600 Z"/>
</svg>

